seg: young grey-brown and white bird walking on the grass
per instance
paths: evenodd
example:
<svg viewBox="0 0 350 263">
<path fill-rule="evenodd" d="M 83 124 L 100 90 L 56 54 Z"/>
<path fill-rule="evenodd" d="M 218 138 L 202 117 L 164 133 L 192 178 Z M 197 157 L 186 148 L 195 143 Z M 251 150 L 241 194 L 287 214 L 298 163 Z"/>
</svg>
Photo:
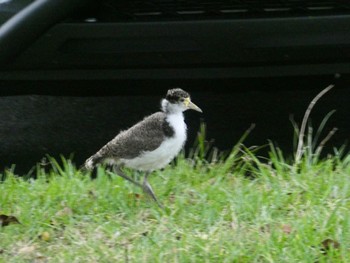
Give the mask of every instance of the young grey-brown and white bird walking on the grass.
<svg viewBox="0 0 350 263">
<path fill-rule="evenodd" d="M 148 177 L 153 171 L 166 167 L 184 147 L 187 125 L 183 112 L 186 110 L 202 113 L 188 92 L 181 88 L 169 89 L 161 100 L 160 111 L 121 131 L 85 161 L 84 170 L 92 171 L 101 164 L 111 166 L 115 174 L 141 187 L 163 208 Z M 143 172 L 143 182 L 127 176 L 124 167 Z"/>
</svg>

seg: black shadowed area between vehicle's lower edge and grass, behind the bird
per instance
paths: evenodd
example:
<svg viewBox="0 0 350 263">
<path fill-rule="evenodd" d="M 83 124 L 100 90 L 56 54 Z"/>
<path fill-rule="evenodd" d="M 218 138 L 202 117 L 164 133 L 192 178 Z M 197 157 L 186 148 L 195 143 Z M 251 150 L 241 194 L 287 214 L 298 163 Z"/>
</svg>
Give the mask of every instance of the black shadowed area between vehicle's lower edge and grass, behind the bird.
<svg viewBox="0 0 350 263">
<path fill-rule="evenodd" d="M 342 76 L 290 77 L 210 81 L 61 81 L 0 83 L 1 169 L 16 164 L 23 173 L 46 154 L 74 154 L 79 166 L 120 130 L 159 109 L 168 88 L 189 91 L 203 114 L 188 111 L 188 150 L 200 121 L 207 124 L 208 139 L 229 150 L 251 123 L 256 128 L 246 145 L 272 140 L 292 154 L 290 115 L 301 122 L 312 98 L 327 85 L 336 87 L 322 98 L 311 114 L 318 127 L 324 116 L 337 112 L 324 130 L 338 127 L 327 151 L 349 139 L 350 78 Z M 118 88 L 116 88 L 118 87 Z M 263 153 L 262 153 L 263 154 Z"/>
</svg>

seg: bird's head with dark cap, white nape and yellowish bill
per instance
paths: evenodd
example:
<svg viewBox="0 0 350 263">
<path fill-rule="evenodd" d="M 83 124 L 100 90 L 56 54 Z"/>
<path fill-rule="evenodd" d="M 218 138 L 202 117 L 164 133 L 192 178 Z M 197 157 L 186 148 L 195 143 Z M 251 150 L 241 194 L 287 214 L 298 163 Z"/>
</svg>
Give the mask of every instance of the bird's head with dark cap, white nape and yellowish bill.
<svg viewBox="0 0 350 263">
<path fill-rule="evenodd" d="M 190 94 L 176 88 L 168 90 L 166 97 L 162 100 L 162 110 L 164 112 L 183 112 L 185 110 L 202 110 L 191 101 Z"/>
</svg>

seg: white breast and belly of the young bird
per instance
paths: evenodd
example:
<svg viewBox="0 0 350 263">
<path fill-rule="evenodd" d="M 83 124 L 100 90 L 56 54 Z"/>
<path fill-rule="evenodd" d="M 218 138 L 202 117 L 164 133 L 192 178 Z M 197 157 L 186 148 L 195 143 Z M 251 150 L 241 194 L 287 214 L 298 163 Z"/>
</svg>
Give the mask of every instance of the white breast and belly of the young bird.
<svg viewBox="0 0 350 263">
<path fill-rule="evenodd" d="M 126 167 L 140 171 L 153 171 L 165 167 L 175 158 L 186 141 L 186 123 L 181 113 L 168 115 L 167 121 L 174 129 L 175 134 L 166 140 L 154 151 L 144 152 L 142 156 L 127 160 L 120 160 Z"/>
</svg>

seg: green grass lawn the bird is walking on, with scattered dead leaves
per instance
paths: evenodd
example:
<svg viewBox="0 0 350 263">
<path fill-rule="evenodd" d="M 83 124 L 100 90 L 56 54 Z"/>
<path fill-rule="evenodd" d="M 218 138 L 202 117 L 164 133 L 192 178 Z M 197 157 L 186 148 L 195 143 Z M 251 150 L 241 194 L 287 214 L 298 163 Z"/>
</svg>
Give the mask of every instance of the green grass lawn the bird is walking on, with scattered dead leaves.
<svg viewBox="0 0 350 263">
<path fill-rule="evenodd" d="M 296 167 L 274 148 L 264 162 L 238 148 L 208 162 L 204 148 L 151 176 L 164 211 L 118 176 L 99 169 L 91 180 L 67 160 L 49 173 L 38 169 L 37 180 L 8 173 L 0 214 L 21 224 L 0 227 L 0 262 L 350 258 L 349 156 L 306 156 Z M 326 239 L 340 247 L 322 253 Z"/>
</svg>

